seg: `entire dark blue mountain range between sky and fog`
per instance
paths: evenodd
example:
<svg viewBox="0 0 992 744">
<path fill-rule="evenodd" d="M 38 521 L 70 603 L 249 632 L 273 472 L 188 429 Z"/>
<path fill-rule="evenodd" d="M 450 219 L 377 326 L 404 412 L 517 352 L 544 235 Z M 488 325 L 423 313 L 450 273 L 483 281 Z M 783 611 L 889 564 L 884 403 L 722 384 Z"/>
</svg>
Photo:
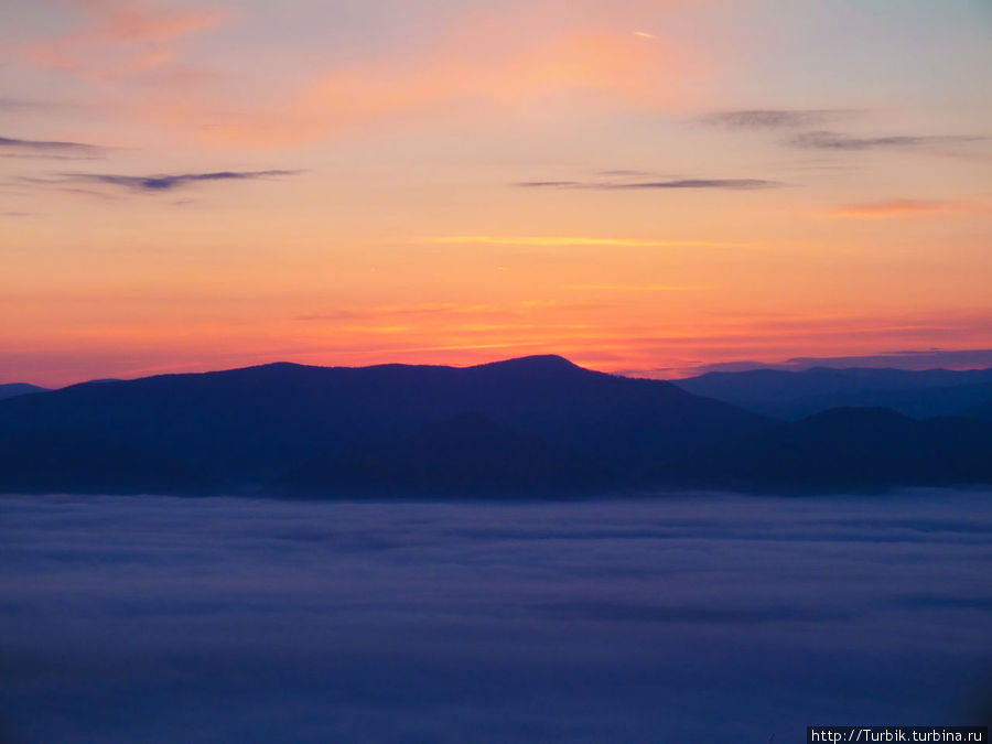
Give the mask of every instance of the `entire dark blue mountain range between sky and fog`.
<svg viewBox="0 0 992 744">
<path fill-rule="evenodd" d="M 761 370 L 672 384 L 557 356 L 468 368 L 272 364 L 23 389 L 0 401 L 0 492 L 465 496 L 990 483 L 989 401 L 992 370 Z"/>
</svg>

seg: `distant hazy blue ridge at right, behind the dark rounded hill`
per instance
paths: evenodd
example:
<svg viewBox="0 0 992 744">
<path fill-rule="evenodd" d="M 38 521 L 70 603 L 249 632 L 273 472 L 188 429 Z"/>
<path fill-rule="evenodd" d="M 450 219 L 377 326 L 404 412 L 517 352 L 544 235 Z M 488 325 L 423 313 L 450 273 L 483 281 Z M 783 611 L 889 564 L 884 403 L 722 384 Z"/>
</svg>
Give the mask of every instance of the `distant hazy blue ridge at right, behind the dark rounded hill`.
<svg viewBox="0 0 992 744">
<path fill-rule="evenodd" d="M 698 396 L 792 420 L 842 407 L 892 408 L 915 418 L 957 416 L 992 397 L 992 369 L 755 369 L 673 381 Z"/>
</svg>

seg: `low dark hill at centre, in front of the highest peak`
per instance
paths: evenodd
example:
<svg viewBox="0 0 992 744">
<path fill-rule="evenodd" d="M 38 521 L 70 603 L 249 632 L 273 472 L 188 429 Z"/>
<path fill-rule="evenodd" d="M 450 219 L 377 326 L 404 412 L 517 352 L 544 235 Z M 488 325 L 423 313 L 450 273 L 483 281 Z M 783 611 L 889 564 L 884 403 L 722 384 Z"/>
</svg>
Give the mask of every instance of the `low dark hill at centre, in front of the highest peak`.
<svg viewBox="0 0 992 744">
<path fill-rule="evenodd" d="M 616 483 L 589 456 L 503 427 L 476 413 L 317 457 L 281 485 L 292 493 L 481 495 L 574 493 Z"/>
</svg>

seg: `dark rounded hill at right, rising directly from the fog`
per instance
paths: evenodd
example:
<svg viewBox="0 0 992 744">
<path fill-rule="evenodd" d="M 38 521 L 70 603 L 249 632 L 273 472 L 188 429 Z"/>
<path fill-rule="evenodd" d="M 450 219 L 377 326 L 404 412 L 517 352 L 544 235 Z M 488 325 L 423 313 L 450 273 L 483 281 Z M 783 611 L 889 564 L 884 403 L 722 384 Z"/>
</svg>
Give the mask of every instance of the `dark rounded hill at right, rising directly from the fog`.
<svg viewBox="0 0 992 744">
<path fill-rule="evenodd" d="M 992 483 L 992 422 L 839 408 L 727 440 L 656 476 L 788 490 Z"/>
</svg>

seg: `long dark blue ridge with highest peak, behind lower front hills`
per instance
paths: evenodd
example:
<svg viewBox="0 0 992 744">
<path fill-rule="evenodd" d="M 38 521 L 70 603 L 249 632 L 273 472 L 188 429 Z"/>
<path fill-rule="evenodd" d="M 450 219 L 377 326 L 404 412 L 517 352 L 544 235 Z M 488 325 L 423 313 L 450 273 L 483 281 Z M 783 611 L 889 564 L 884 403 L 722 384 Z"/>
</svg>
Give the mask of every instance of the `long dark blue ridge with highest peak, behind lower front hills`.
<svg viewBox="0 0 992 744">
<path fill-rule="evenodd" d="M 539 356 L 464 369 L 272 364 L 84 384 L 0 402 L 0 438 L 72 428 L 200 472 L 204 486 L 240 489 L 466 412 L 617 473 L 639 473 L 718 438 L 767 425 L 759 416 L 668 382 Z M 45 446 L 40 440 L 35 445 Z M 57 462 L 50 467 L 57 470 Z M 51 477 L 37 474 L 39 483 Z"/>
</svg>

